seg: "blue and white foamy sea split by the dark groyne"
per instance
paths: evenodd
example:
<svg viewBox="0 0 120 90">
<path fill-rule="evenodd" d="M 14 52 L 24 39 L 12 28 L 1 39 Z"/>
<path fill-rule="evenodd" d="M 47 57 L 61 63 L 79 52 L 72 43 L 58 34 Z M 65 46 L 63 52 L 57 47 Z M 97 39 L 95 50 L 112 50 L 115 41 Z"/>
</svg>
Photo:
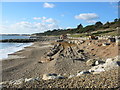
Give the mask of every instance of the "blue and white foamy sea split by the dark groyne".
<svg viewBox="0 0 120 90">
<path fill-rule="evenodd" d="M 4 39 L 28 39 L 30 36 L 18 36 L 18 35 L 0 35 L 0 40 Z M 0 42 L 0 60 L 4 60 L 8 57 L 8 54 L 12 54 L 24 47 L 30 46 L 32 43 L 2 43 Z"/>
</svg>

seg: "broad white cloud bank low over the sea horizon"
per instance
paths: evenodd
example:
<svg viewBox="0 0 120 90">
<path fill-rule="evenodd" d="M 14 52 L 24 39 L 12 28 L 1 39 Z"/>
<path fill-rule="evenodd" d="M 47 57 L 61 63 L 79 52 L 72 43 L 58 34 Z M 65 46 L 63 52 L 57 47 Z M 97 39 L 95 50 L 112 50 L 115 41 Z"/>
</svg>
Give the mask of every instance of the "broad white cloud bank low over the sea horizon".
<svg viewBox="0 0 120 90">
<path fill-rule="evenodd" d="M 9 26 L 0 26 L 0 33 L 29 34 L 39 33 L 47 30 L 59 29 L 57 21 L 53 18 L 40 17 L 40 22 L 21 21 Z"/>
</svg>

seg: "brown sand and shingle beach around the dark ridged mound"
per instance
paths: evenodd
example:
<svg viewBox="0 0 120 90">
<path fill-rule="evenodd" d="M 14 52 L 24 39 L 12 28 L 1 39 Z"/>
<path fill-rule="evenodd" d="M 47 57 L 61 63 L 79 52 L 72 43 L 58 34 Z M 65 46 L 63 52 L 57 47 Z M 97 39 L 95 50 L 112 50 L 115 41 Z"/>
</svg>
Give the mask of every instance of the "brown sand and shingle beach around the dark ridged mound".
<svg viewBox="0 0 120 90">
<path fill-rule="evenodd" d="M 96 46 L 100 43 L 105 42 L 104 40 L 86 40 L 82 45 L 78 45 L 77 48 L 84 50 L 85 58 L 92 59 L 99 57 L 103 61 L 107 58 L 113 58 L 118 55 L 118 46 L 115 43 L 111 43 L 109 46 Z M 91 43 L 91 45 L 87 45 Z M 35 42 L 32 46 L 25 47 L 23 50 L 10 54 L 8 59 L 2 60 L 2 80 L 10 81 L 10 80 L 18 80 L 20 78 L 31 78 L 31 77 L 39 77 L 41 80 L 38 82 L 37 86 L 28 85 L 26 83 L 24 87 L 38 87 L 38 88 L 114 88 L 118 86 L 118 68 L 112 69 L 111 71 L 107 71 L 101 74 L 95 75 L 82 75 L 80 77 L 74 77 L 72 79 L 62 79 L 62 80 L 42 80 L 44 74 L 48 73 L 56 73 L 65 77 L 69 77 L 70 75 L 75 75 L 78 72 L 83 70 L 89 70 L 92 66 L 86 65 L 86 61 L 74 60 L 73 57 L 57 57 L 54 56 L 54 60 L 49 62 L 42 63 L 42 57 L 45 56 L 54 45 L 62 45 L 67 51 L 66 47 L 70 46 L 76 48 L 76 44 L 66 44 L 47 41 L 47 42 Z M 68 45 L 68 46 L 67 46 Z M 60 46 L 61 47 L 61 46 Z M 77 49 L 73 49 L 77 50 Z M 101 53 L 102 52 L 102 53 Z M 75 52 L 74 52 L 75 53 Z M 72 55 L 72 54 L 71 54 Z M 81 54 L 80 54 L 81 55 Z M 68 55 L 69 56 L 69 55 Z M 110 82 L 109 82 L 110 81 Z M 51 83 L 53 82 L 53 83 Z M 35 84 L 36 82 L 34 82 Z M 47 85 L 45 85 L 47 83 Z M 62 85 L 60 85 L 61 83 Z M 106 83 L 104 85 L 104 83 Z M 110 84 L 112 83 L 112 84 Z M 33 83 L 32 83 L 33 84 Z M 107 85 L 107 86 L 106 86 Z"/>
</svg>

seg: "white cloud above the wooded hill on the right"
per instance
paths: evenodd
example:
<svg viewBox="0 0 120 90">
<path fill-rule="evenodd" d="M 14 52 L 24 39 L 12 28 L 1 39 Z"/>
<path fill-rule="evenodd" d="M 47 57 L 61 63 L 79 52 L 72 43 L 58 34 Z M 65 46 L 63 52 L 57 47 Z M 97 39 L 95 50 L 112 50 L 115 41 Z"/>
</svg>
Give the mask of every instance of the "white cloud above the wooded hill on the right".
<svg viewBox="0 0 120 90">
<path fill-rule="evenodd" d="M 96 13 L 82 13 L 75 16 L 75 19 L 85 20 L 87 23 L 95 23 L 99 16 Z"/>
</svg>

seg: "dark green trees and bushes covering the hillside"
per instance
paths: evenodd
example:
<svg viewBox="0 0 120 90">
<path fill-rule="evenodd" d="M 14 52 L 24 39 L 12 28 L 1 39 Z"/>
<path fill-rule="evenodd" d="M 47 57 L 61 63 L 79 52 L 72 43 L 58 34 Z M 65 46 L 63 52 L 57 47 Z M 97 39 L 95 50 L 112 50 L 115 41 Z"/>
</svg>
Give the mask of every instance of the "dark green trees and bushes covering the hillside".
<svg viewBox="0 0 120 90">
<path fill-rule="evenodd" d="M 75 37 L 80 37 L 82 36 L 86 36 L 86 34 L 83 33 L 91 33 L 94 31 L 98 31 L 98 30 L 102 30 L 102 29 L 108 29 L 108 28 L 117 28 L 120 27 L 120 18 L 119 19 L 114 19 L 113 22 L 106 22 L 105 24 L 103 24 L 102 22 L 98 21 L 96 22 L 94 25 L 88 25 L 86 27 L 83 27 L 82 24 L 79 24 L 76 28 L 72 28 L 72 29 L 54 29 L 54 30 L 48 30 L 44 33 L 35 33 L 33 35 L 42 35 L 42 36 L 58 36 L 61 34 L 79 34 L 79 35 L 74 35 Z M 99 31 L 96 33 L 93 33 L 93 35 L 99 35 L 99 34 L 105 34 L 105 33 L 109 33 L 112 31 Z"/>
</svg>

